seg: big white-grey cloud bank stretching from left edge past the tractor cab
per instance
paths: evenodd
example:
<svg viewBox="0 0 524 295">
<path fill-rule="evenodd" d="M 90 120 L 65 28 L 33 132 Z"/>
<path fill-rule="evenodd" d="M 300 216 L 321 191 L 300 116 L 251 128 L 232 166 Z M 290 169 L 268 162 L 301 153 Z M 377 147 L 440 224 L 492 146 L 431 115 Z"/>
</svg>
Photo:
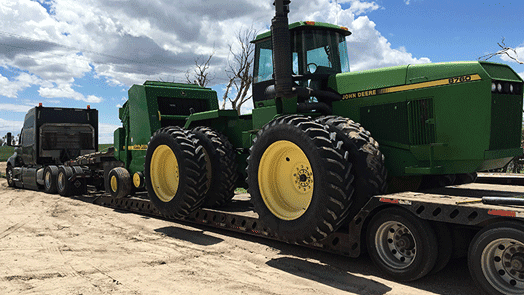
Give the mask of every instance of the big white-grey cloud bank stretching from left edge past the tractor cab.
<svg viewBox="0 0 524 295">
<path fill-rule="evenodd" d="M 102 97 L 73 89 L 86 74 L 110 86 L 141 84 L 185 73 L 199 55 L 213 50 L 212 83 L 225 81 L 228 44 L 241 28 L 269 29 L 272 0 L 143 2 L 139 0 L 51 0 L 52 14 L 36 1 L 10 0 L 0 5 L 0 66 L 27 72 L 20 79 L 0 76 L 2 95 L 17 97 L 27 87 L 39 86 L 46 98 L 99 103 Z M 392 48 L 365 14 L 380 9 L 373 1 L 293 1 L 290 22 L 337 22 L 352 31 L 348 50 L 352 70 L 429 62 L 406 49 Z M 409 1 L 406 1 L 409 4 Z M 20 30 L 24 28 L 24 30 Z M 232 29 L 234 28 L 234 29 Z M 211 86 L 211 85 L 210 85 Z"/>
</svg>

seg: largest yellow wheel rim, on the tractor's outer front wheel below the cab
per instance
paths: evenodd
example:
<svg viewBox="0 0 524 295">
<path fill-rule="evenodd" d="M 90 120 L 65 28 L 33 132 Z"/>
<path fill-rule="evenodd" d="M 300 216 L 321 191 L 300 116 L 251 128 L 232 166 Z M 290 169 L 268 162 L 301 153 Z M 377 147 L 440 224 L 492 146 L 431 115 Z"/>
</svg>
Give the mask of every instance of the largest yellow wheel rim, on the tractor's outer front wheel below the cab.
<svg viewBox="0 0 524 295">
<path fill-rule="evenodd" d="M 274 142 L 260 159 L 258 186 L 271 213 L 283 220 L 295 220 L 311 204 L 311 164 L 296 144 L 287 140 Z"/>
</svg>

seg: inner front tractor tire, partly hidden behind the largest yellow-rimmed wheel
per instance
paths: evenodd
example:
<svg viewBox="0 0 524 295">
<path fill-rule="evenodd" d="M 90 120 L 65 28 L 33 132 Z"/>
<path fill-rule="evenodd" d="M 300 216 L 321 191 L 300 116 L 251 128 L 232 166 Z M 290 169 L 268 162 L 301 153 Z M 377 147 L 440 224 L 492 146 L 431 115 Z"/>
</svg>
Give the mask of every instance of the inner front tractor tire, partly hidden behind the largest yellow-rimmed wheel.
<svg viewBox="0 0 524 295">
<path fill-rule="evenodd" d="M 349 152 L 349 162 L 352 164 L 351 174 L 355 176 L 354 204 L 348 207 L 351 208 L 349 215 L 354 216 L 369 201 L 369 198 L 386 193 L 387 170 L 384 165 L 384 155 L 369 131 L 353 120 L 339 116 L 325 116 L 315 119 L 315 122 L 331 126 L 344 139 L 344 149 Z"/>
</svg>

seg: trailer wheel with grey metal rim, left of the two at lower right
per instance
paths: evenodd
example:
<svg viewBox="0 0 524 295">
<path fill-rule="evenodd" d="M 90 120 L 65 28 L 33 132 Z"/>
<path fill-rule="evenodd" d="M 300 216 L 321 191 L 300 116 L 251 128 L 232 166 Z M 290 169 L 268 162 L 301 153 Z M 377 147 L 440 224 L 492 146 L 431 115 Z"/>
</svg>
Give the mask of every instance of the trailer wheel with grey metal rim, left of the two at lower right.
<svg viewBox="0 0 524 295">
<path fill-rule="evenodd" d="M 387 208 L 371 219 L 367 230 L 371 260 L 398 281 L 413 281 L 435 266 L 438 248 L 431 225 L 401 208 Z"/>
</svg>

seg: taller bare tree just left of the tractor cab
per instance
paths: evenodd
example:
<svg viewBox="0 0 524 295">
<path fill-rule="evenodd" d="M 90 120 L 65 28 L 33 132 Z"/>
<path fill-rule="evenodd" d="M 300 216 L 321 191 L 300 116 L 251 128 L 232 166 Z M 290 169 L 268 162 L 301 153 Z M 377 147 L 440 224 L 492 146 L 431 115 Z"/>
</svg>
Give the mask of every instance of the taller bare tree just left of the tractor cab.
<svg viewBox="0 0 524 295">
<path fill-rule="evenodd" d="M 226 74 L 229 81 L 224 92 L 222 109 L 226 108 L 226 102 L 229 101 L 233 109 L 240 114 L 242 104 L 248 101 L 252 95 L 248 95 L 253 83 L 253 75 L 251 74 L 251 67 L 253 66 L 255 46 L 250 43 L 257 35 L 253 28 L 241 29 L 237 34 L 237 42 L 240 46 L 239 50 L 233 50 L 233 44 L 229 45 L 229 53 L 231 56 L 228 62 Z M 235 97 L 229 97 L 232 92 L 232 87 L 235 90 Z"/>
</svg>

